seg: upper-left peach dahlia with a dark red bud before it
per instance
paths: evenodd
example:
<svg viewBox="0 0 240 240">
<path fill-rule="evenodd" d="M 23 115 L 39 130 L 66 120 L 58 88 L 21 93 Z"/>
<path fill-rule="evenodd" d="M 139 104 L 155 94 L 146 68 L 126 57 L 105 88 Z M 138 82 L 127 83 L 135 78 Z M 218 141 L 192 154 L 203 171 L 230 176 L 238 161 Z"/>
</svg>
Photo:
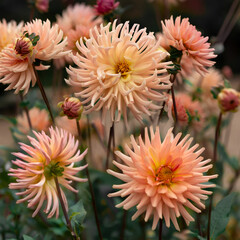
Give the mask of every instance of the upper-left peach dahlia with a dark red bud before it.
<svg viewBox="0 0 240 240">
<path fill-rule="evenodd" d="M 37 44 L 33 46 L 32 40 L 25 36 L 35 33 L 39 36 Z M 36 76 L 32 64 L 36 60 L 49 61 L 60 58 L 68 52 L 64 51 L 67 38 L 58 26 L 51 27 L 50 21 L 42 22 L 36 19 L 27 23 L 22 35 L 15 39 L 15 43 L 5 47 L 0 53 L 0 82 L 9 84 L 5 90 L 16 89 L 15 93 L 24 90 L 28 92 L 30 84 L 36 83 Z M 49 66 L 38 65 L 36 70 L 46 70 Z"/>
</svg>

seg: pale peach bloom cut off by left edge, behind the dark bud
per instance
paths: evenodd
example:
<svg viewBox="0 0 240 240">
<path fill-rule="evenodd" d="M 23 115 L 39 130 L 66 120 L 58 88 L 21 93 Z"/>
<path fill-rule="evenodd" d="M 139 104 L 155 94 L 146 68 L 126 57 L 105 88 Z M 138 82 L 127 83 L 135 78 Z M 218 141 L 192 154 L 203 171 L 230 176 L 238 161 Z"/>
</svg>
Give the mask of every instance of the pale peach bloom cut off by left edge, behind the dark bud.
<svg viewBox="0 0 240 240">
<path fill-rule="evenodd" d="M 15 44 L 16 38 L 21 35 L 23 23 L 15 21 L 7 23 L 5 19 L 0 22 L 0 52 L 9 44 Z"/>
</svg>

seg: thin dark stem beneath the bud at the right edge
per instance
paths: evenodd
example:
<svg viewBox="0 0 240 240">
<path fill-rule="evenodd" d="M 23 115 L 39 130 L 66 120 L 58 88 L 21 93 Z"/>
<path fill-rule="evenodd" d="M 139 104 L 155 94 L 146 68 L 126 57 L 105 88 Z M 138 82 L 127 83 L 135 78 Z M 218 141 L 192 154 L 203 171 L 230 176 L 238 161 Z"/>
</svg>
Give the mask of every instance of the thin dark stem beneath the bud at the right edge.
<svg viewBox="0 0 240 240">
<path fill-rule="evenodd" d="M 220 136 L 220 128 L 221 128 L 221 122 L 222 122 L 222 113 L 220 112 L 218 117 L 218 122 L 216 126 L 215 131 L 215 140 L 214 140 L 214 150 L 213 150 L 213 165 L 217 161 L 217 145 L 218 145 L 218 139 Z M 207 240 L 210 240 L 210 227 L 211 227 L 211 215 L 212 215 L 212 204 L 213 204 L 213 193 L 210 196 L 210 202 L 209 202 L 209 209 L 208 209 L 208 227 L 207 227 Z"/>
</svg>

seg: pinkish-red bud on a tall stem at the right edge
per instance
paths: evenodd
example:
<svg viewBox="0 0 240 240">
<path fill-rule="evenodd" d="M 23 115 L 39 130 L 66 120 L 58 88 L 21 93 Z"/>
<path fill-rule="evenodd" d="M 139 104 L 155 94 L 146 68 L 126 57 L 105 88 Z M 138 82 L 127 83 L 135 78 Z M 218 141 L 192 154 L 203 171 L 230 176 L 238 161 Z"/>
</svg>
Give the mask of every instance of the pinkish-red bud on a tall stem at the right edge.
<svg viewBox="0 0 240 240">
<path fill-rule="evenodd" d="M 236 112 L 240 103 L 240 94 L 232 88 L 224 88 L 218 94 L 218 105 L 222 111 L 225 112 Z"/>
</svg>

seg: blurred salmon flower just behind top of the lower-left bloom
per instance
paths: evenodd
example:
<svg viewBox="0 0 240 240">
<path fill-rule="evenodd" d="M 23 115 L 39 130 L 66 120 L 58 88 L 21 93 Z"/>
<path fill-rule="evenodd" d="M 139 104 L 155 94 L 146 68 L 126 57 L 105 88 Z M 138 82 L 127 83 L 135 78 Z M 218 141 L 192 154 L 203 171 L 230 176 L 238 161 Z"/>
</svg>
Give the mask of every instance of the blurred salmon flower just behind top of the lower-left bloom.
<svg viewBox="0 0 240 240">
<path fill-rule="evenodd" d="M 31 120 L 32 128 L 36 131 L 47 131 L 50 126 L 50 120 L 48 112 L 45 109 L 39 109 L 37 107 L 29 110 L 29 117 Z M 24 112 L 22 115 L 17 116 L 18 129 L 27 134 L 30 130 L 27 115 Z"/>
</svg>

